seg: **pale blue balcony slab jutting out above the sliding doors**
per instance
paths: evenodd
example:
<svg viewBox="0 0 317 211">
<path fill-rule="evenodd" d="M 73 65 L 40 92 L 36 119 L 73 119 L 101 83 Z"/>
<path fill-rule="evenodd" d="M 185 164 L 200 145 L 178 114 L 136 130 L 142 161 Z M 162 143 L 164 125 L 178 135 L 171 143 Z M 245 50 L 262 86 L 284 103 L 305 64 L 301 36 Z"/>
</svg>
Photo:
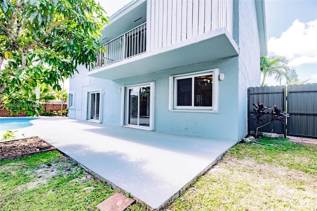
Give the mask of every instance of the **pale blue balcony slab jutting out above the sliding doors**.
<svg viewBox="0 0 317 211">
<path fill-rule="evenodd" d="M 236 56 L 239 48 L 225 27 L 90 71 L 89 76 L 118 80 L 160 70 Z"/>
</svg>

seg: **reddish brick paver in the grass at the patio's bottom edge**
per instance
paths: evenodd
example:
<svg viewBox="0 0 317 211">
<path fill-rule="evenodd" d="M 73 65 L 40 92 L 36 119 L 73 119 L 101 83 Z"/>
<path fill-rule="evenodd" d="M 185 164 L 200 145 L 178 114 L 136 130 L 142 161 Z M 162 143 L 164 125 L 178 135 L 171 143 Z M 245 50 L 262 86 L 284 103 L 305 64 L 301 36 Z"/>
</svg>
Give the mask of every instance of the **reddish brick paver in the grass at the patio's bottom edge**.
<svg viewBox="0 0 317 211">
<path fill-rule="evenodd" d="M 115 193 L 105 201 L 97 205 L 100 211 L 124 211 L 134 203 L 135 200 L 127 198 L 121 193 Z"/>
</svg>

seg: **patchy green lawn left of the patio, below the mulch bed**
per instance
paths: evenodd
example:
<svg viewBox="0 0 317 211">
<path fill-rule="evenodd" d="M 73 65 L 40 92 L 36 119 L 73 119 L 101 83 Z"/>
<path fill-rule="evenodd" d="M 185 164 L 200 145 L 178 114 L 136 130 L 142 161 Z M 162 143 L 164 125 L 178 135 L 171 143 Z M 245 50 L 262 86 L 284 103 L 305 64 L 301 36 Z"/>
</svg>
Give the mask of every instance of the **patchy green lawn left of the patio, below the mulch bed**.
<svg viewBox="0 0 317 211">
<path fill-rule="evenodd" d="M 97 210 L 115 191 L 57 151 L 0 161 L 0 210 Z"/>
</svg>

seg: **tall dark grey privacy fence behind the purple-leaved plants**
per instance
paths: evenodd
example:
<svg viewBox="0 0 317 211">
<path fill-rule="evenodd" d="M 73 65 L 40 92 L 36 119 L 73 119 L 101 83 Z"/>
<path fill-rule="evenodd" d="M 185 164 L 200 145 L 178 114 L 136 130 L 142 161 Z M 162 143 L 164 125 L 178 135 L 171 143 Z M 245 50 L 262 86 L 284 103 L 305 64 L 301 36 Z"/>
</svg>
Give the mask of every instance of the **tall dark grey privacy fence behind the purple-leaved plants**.
<svg viewBox="0 0 317 211">
<path fill-rule="evenodd" d="M 252 104 L 257 104 L 257 101 L 265 106 L 283 107 L 283 110 L 290 114 L 285 125 L 278 121 L 273 122 L 273 132 L 282 133 L 285 137 L 288 135 L 317 138 L 317 84 L 248 88 L 249 132 L 256 130 L 256 123 L 250 118 L 250 112 L 253 112 Z M 267 116 L 261 125 L 268 121 Z M 261 132 L 271 130 L 271 124 L 259 128 Z"/>
</svg>

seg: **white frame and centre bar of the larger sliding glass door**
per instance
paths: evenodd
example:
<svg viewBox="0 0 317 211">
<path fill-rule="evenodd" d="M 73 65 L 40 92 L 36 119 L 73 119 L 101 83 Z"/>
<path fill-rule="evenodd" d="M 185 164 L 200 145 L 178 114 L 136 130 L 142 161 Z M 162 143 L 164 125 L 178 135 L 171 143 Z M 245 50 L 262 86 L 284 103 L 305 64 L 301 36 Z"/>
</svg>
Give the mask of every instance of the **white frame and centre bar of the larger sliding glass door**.
<svg viewBox="0 0 317 211">
<path fill-rule="evenodd" d="M 134 125 L 129 124 L 129 90 L 133 88 L 140 87 L 150 87 L 150 126 L 142 126 L 142 125 Z M 131 127 L 136 129 L 143 130 L 154 130 L 154 93 L 155 93 L 155 82 L 143 83 L 143 84 L 135 84 L 122 87 L 122 110 L 121 110 L 121 125 L 124 127 Z M 139 105 L 139 104 L 138 104 Z M 139 110 L 140 105 L 138 106 Z M 138 114 L 139 115 L 139 114 Z"/>
</svg>

